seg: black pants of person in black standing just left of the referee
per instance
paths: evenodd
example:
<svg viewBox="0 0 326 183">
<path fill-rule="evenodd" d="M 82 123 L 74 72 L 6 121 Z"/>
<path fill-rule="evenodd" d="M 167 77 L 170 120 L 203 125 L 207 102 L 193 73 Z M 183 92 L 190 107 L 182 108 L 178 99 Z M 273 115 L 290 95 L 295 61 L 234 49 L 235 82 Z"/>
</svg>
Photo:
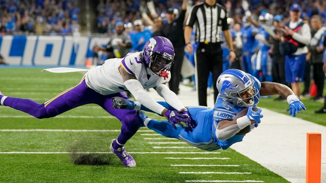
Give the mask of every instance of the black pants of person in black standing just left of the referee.
<svg viewBox="0 0 326 183">
<path fill-rule="evenodd" d="M 184 47 L 174 48 L 174 63 L 171 67 L 171 79 L 169 81 L 170 90 L 175 94 L 179 93 L 179 83 L 181 81 L 181 66 L 185 55 Z"/>
</svg>

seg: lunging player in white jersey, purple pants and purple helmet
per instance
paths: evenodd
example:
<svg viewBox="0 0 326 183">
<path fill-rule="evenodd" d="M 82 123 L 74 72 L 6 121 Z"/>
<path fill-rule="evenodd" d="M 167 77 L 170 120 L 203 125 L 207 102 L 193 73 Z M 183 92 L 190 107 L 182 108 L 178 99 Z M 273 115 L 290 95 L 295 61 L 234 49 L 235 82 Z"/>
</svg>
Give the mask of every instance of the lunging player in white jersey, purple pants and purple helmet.
<svg viewBox="0 0 326 183">
<path fill-rule="evenodd" d="M 175 93 L 165 85 L 169 82 L 174 49 L 169 39 L 161 36 L 150 38 L 142 51 L 129 53 L 124 58 L 106 60 L 103 65 L 90 69 L 81 82 L 38 104 L 30 99 L 7 97 L 0 92 L 1 105 L 26 112 L 38 119 L 51 118 L 85 104 L 97 104 L 121 123 L 121 133 L 111 141 L 110 149 L 127 167 L 136 162 L 124 149 L 124 144 L 139 129 L 137 110 L 122 110 L 112 107 L 113 97 L 127 99 L 124 91 L 130 91 L 142 105 L 161 114 L 172 124 L 187 123 L 190 116 Z M 168 110 L 148 96 L 145 89 L 154 88 L 172 106 Z M 182 111 L 182 114 L 181 114 Z M 182 125 L 183 126 L 183 125 Z"/>
</svg>

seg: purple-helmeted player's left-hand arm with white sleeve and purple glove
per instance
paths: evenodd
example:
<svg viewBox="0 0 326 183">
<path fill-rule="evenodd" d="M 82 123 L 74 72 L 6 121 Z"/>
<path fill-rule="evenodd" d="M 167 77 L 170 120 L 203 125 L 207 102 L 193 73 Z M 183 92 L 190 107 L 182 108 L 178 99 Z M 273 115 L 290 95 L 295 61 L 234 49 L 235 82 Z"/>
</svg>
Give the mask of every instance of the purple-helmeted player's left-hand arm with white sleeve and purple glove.
<svg viewBox="0 0 326 183">
<path fill-rule="evenodd" d="M 152 97 L 148 96 L 143 86 L 134 75 L 127 73 L 123 67 L 119 67 L 119 72 L 128 91 L 130 91 L 135 99 L 142 105 L 164 116 L 173 127 L 175 127 L 175 124 L 183 126 L 180 121 L 187 122 L 187 115 L 179 113 L 181 111 L 170 111 L 158 104 Z"/>
</svg>

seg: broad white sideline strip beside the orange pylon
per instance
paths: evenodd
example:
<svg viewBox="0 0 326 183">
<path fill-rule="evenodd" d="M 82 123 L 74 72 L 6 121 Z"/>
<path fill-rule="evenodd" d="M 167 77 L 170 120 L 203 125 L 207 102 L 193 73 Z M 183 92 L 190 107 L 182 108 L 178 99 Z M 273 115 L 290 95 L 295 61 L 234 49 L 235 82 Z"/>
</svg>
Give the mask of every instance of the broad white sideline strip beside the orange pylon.
<svg viewBox="0 0 326 183">
<path fill-rule="evenodd" d="M 179 85 L 179 88 L 178 98 L 183 105 L 198 106 L 196 91 L 184 85 Z M 155 90 L 150 89 L 148 93 L 154 100 L 164 101 Z M 208 95 L 208 106 L 214 107 L 214 103 L 213 94 Z M 292 183 L 305 183 L 306 133 L 319 132 L 322 134 L 321 182 L 326 182 L 326 127 L 265 108 L 262 114 L 264 117 L 259 127 L 231 148 Z M 323 114 L 318 116 L 326 119 Z"/>
</svg>

